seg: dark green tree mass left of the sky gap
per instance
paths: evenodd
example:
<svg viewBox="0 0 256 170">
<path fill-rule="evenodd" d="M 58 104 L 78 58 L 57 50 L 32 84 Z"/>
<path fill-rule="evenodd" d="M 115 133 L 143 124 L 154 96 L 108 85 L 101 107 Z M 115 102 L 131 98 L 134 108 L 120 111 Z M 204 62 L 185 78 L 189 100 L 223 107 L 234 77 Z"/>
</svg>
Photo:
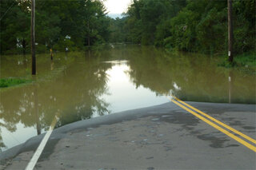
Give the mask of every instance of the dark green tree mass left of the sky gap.
<svg viewBox="0 0 256 170">
<path fill-rule="evenodd" d="M 1 53 L 30 51 L 30 0 L 2 0 Z M 37 0 L 36 49 L 83 49 L 106 42 L 110 18 L 99 0 Z"/>
</svg>

